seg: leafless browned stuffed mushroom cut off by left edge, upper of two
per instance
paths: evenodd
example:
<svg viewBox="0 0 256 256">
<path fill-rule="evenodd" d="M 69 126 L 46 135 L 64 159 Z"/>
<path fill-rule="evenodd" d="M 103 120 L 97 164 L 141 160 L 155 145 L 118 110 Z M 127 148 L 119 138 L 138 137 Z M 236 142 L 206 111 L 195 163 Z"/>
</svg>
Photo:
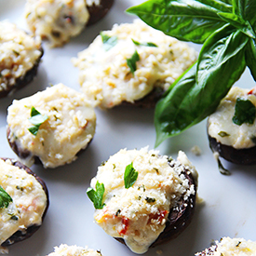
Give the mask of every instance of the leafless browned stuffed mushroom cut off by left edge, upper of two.
<svg viewBox="0 0 256 256">
<path fill-rule="evenodd" d="M 42 56 L 39 37 L 7 20 L 0 21 L 0 98 L 33 80 Z"/>
</svg>

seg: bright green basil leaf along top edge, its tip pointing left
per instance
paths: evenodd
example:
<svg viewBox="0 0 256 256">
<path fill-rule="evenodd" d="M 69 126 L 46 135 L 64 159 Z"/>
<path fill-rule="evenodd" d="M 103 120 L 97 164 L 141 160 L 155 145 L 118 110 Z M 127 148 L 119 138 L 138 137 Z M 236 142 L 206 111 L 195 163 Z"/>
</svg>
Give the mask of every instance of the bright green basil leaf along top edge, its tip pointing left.
<svg viewBox="0 0 256 256">
<path fill-rule="evenodd" d="M 217 15 L 218 11 L 223 10 L 227 11 L 225 8 L 218 10 L 196 0 L 149 0 L 128 8 L 127 12 L 137 15 L 145 23 L 165 34 L 182 41 L 202 44 L 210 34 L 225 24 Z M 232 7 L 230 11 L 232 12 Z"/>
</svg>

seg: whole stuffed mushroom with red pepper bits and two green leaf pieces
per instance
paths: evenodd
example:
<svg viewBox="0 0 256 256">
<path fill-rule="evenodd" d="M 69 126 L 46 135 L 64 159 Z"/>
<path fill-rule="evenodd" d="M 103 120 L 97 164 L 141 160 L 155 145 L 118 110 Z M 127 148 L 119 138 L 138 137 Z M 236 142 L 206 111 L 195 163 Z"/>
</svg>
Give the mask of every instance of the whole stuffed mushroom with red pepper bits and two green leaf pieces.
<svg viewBox="0 0 256 256">
<path fill-rule="evenodd" d="M 178 236 L 195 211 L 197 172 L 187 156 L 122 149 L 91 180 L 94 220 L 135 253 Z"/>
</svg>

